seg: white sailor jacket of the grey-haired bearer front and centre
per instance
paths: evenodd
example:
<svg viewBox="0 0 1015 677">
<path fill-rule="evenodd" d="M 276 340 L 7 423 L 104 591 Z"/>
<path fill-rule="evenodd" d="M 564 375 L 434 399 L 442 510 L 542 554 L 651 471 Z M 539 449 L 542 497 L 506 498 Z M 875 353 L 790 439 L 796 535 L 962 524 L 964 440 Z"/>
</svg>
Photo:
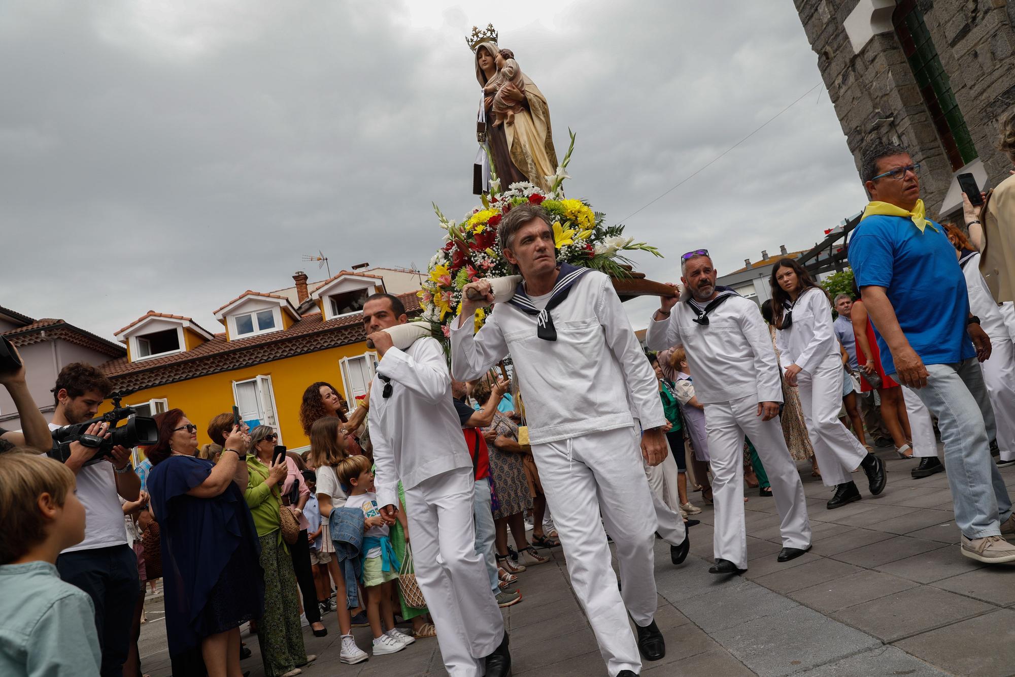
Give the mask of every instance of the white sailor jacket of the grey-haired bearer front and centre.
<svg viewBox="0 0 1015 677">
<path fill-rule="evenodd" d="M 550 314 L 556 341 L 537 336 L 536 316 L 506 303 L 475 335 L 471 319 L 453 328 L 455 378 L 479 378 L 511 353 L 533 444 L 633 426 L 634 417 L 646 430 L 666 425 L 656 375 L 609 278 L 585 273 Z"/>
</svg>

